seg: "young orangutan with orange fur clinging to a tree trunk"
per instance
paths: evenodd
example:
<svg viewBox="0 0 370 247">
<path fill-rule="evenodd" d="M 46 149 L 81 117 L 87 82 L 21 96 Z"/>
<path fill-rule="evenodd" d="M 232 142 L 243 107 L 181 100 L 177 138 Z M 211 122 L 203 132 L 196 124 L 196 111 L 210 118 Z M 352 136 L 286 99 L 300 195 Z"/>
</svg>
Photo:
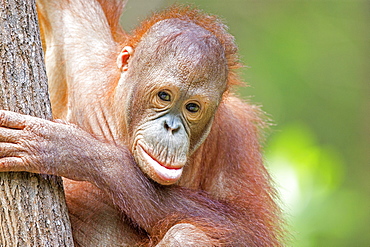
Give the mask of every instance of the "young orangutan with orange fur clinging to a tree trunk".
<svg viewBox="0 0 370 247">
<path fill-rule="evenodd" d="M 133 32 L 120 1 L 41 0 L 47 121 L 0 111 L 0 170 L 65 177 L 76 246 L 282 246 L 260 111 L 236 46 L 172 7 Z"/>
</svg>

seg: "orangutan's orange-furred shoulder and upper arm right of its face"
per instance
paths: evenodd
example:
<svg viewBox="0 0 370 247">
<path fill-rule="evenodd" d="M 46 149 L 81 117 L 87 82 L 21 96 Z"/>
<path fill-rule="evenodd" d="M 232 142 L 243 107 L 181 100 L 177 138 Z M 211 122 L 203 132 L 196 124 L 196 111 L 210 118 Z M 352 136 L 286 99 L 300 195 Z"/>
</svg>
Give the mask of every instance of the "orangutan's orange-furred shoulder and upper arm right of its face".
<svg viewBox="0 0 370 247">
<path fill-rule="evenodd" d="M 259 140 L 262 127 L 265 123 L 257 107 L 227 97 L 217 111 L 209 137 L 196 154 L 204 166 L 199 186 L 237 208 L 257 246 L 280 246 L 282 222 L 276 193 L 263 165 Z"/>
</svg>

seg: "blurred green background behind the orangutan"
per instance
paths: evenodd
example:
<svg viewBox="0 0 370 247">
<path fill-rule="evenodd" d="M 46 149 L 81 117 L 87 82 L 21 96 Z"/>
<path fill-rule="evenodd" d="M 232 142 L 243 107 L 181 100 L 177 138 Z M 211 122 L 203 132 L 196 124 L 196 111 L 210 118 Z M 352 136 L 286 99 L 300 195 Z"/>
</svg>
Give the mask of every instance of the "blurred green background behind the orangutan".
<svg viewBox="0 0 370 247">
<path fill-rule="evenodd" d="M 131 0 L 126 29 L 175 1 Z M 370 1 L 192 0 L 236 37 L 289 246 L 370 246 Z"/>
</svg>

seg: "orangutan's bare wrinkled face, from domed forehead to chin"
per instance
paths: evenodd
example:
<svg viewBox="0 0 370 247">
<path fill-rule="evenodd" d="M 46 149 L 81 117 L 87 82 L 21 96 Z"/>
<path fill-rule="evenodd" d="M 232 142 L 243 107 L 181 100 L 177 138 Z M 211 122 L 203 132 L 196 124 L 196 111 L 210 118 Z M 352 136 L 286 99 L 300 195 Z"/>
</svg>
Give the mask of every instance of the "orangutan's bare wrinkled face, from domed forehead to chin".
<svg viewBox="0 0 370 247">
<path fill-rule="evenodd" d="M 208 134 L 226 88 L 221 44 L 195 24 L 164 20 L 146 34 L 123 74 L 122 86 L 135 92 L 125 108 L 142 112 L 126 123 L 135 159 L 154 181 L 175 183 Z"/>
</svg>

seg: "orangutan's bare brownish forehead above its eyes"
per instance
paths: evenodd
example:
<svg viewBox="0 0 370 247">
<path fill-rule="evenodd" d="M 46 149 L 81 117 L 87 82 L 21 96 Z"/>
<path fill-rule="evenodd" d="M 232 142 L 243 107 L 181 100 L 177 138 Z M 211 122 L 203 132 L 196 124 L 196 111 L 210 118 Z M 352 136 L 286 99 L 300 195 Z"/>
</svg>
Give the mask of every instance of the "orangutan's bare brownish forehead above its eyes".
<svg viewBox="0 0 370 247">
<path fill-rule="evenodd" d="M 142 74 L 161 74 L 182 87 L 226 87 L 227 62 L 219 40 L 204 28 L 179 19 L 157 22 L 144 35 L 135 57 Z"/>
</svg>

